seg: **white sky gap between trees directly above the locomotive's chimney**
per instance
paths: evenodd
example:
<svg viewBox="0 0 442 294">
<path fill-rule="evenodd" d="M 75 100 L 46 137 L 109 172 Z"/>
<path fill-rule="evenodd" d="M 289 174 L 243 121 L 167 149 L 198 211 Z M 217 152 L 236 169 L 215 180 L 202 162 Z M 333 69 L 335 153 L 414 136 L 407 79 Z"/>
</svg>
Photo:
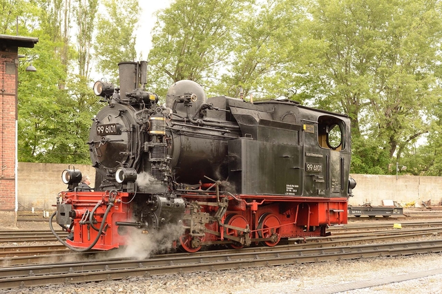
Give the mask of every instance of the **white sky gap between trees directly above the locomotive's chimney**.
<svg viewBox="0 0 442 294">
<path fill-rule="evenodd" d="M 137 56 L 142 56 L 142 60 L 147 60 L 149 50 L 152 48 L 151 30 L 157 18 L 153 15 L 157 10 L 168 8 L 172 0 L 140 0 L 140 28 L 137 30 L 137 43 L 135 50 Z"/>
</svg>

